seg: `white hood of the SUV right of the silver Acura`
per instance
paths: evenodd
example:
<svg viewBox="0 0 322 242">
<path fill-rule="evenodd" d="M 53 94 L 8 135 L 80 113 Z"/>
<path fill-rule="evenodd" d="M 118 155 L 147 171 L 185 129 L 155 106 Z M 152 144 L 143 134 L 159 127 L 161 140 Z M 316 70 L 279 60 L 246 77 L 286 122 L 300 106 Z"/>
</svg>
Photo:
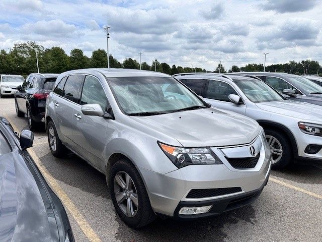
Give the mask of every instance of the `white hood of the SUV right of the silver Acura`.
<svg viewBox="0 0 322 242">
<path fill-rule="evenodd" d="M 321 122 L 322 120 L 322 107 L 310 103 L 284 100 L 276 102 L 261 102 L 256 103 L 256 105 L 265 111 L 296 117 L 298 119 L 317 122 Z"/>
</svg>

